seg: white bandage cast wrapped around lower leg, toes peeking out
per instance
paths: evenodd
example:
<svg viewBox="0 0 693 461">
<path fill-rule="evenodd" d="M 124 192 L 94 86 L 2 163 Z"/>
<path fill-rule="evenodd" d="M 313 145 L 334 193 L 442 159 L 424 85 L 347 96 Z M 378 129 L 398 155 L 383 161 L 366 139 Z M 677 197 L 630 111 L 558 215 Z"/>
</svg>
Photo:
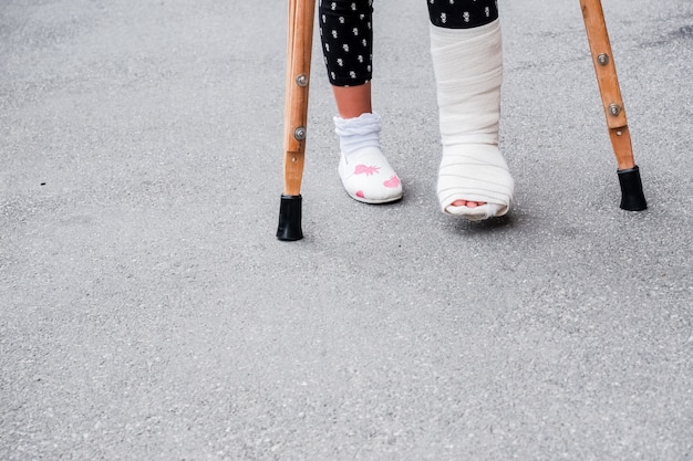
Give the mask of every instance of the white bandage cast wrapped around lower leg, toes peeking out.
<svg viewBox="0 0 693 461">
<path fill-rule="evenodd" d="M 443 144 L 441 209 L 474 221 L 503 216 L 513 200 L 514 181 L 498 149 L 499 22 L 473 29 L 431 25 L 431 54 Z"/>
</svg>

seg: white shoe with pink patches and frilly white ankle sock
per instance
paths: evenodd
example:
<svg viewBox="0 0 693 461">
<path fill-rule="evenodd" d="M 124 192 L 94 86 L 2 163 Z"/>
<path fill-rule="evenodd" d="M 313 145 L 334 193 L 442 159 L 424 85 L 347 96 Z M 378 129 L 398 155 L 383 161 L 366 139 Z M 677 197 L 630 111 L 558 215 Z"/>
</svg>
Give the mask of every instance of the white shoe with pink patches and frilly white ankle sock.
<svg viewBox="0 0 693 461">
<path fill-rule="evenodd" d="M 340 137 L 339 176 L 346 193 L 364 203 L 386 203 L 402 198 L 402 182 L 380 147 L 380 116 L 334 117 Z"/>
</svg>

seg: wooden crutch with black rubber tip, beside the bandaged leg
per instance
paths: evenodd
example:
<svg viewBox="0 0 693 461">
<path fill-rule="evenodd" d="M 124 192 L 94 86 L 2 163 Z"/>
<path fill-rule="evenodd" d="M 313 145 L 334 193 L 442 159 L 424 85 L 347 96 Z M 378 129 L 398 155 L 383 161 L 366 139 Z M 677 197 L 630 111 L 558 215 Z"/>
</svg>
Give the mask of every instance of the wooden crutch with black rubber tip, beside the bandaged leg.
<svg viewBox="0 0 693 461">
<path fill-rule="evenodd" d="M 642 192 L 640 170 L 633 159 L 621 87 L 616 73 L 601 0 L 580 0 L 580 7 L 582 8 L 587 38 L 597 72 L 599 93 L 607 116 L 609 137 L 618 163 L 621 208 L 629 211 L 641 211 L 648 208 L 648 203 Z"/>
</svg>

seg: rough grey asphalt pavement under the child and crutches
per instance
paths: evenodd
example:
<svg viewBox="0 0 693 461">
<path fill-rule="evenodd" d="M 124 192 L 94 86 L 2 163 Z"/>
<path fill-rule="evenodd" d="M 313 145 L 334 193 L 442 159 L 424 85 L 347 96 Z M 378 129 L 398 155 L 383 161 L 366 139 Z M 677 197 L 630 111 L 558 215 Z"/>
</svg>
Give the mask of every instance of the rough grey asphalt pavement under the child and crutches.
<svg viewBox="0 0 693 461">
<path fill-rule="evenodd" d="M 0 2 L 0 459 L 693 460 L 693 2 L 604 4 L 635 213 L 578 1 L 501 2 L 484 223 L 437 210 L 425 3 L 375 7 L 405 199 L 341 189 L 316 48 L 287 243 L 285 2 Z"/>
</svg>

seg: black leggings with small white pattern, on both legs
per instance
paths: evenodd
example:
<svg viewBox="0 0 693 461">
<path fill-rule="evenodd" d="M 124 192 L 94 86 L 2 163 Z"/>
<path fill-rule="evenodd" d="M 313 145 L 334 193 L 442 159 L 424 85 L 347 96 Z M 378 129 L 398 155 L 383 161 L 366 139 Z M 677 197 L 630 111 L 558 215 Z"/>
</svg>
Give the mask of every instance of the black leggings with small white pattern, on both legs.
<svg viewBox="0 0 693 461">
<path fill-rule="evenodd" d="M 426 0 L 431 23 L 470 29 L 498 19 L 496 0 Z M 373 0 L 320 0 L 320 39 L 330 83 L 355 86 L 373 75 Z"/>
</svg>

